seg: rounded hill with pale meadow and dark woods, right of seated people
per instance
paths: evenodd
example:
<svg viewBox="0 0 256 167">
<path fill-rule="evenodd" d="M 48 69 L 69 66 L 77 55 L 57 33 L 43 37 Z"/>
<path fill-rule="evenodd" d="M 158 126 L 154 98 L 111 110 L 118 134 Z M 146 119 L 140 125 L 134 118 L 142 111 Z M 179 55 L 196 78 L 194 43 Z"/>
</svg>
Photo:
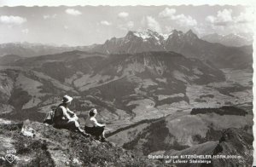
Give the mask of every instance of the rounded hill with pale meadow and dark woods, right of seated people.
<svg viewBox="0 0 256 167">
<path fill-rule="evenodd" d="M 130 130 L 117 130 L 109 140 L 119 143 L 125 149 L 148 155 L 158 151 L 183 151 L 207 142 L 216 142 L 226 130 L 236 128 L 242 137 L 252 136 L 251 115 L 236 107 L 193 109 L 190 115 L 175 112 L 152 122 L 137 124 Z M 192 114 L 193 113 L 193 114 Z M 128 135 L 129 137 L 124 137 Z M 121 140 L 126 139 L 126 140 Z M 245 143 L 252 146 L 252 143 Z M 209 145 L 201 145 L 201 149 Z M 213 149 L 213 148 L 212 148 Z M 193 153 L 193 152 L 191 152 Z"/>
</svg>

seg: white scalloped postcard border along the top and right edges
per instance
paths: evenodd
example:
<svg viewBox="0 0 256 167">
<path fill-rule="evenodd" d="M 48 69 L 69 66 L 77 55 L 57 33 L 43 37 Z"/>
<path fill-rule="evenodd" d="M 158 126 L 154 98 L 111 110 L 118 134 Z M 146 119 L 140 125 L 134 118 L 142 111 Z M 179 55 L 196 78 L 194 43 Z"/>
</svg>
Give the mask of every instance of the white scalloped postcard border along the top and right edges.
<svg viewBox="0 0 256 167">
<path fill-rule="evenodd" d="M 253 7 L 254 15 L 256 18 L 256 0 L 196 0 L 191 3 L 192 0 L 0 0 L 0 7 L 9 6 L 98 6 L 98 5 L 109 5 L 109 6 L 136 6 L 136 5 L 144 5 L 144 6 L 161 6 L 161 5 L 246 5 Z M 256 21 L 254 21 L 253 25 L 253 50 L 256 50 Z M 253 61 L 256 58 L 255 52 L 253 52 Z M 256 63 L 253 63 L 253 71 L 256 69 Z M 253 72 L 253 116 L 256 114 L 256 73 Z M 253 117 L 253 122 L 256 123 L 256 117 Z M 253 124 L 253 135 L 254 139 L 256 139 L 256 124 Z M 253 166 L 256 165 L 256 140 L 253 141 Z"/>
</svg>

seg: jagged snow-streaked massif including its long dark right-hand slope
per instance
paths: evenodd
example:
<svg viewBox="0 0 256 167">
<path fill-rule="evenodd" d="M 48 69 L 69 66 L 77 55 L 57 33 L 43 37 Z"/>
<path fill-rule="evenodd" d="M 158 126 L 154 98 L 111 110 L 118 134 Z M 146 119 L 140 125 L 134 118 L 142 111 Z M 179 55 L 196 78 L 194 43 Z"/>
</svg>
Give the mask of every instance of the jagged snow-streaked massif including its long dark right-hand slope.
<svg viewBox="0 0 256 167">
<path fill-rule="evenodd" d="M 113 37 L 103 44 L 89 49 L 102 54 L 136 54 L 148 51 L 173 51 L 186 57 L 213 63 L 220 68 L 244 68 L 252 60 L 252 53 L 246 47 L 228 47 L 220 43 L 209 43 L 189 30 L 173 30 L 168 37 L 158 32 L 128 32 L 125 37 Z M 232 62 L 232 63 L 230 63 Z M 238 68 L 240 68 L 238 67 Z"/>
</svg>

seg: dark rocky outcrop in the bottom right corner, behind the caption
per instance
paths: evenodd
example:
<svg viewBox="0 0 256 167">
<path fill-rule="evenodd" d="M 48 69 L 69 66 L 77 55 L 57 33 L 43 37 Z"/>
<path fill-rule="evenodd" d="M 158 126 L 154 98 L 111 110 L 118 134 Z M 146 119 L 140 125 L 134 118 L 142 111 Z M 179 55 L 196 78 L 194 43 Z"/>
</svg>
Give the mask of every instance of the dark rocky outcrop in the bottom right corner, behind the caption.
<svg viewBox="0 0 256 167">
<path fill-rule="evenodd" d="M 253 135 L 244 130 L 230 128 L 224 130 L 218 141 L 207 141 L 205 143 L 176 151 L 165 153 L 169 156 L 181 155 L 209 155 L 211 158 L 194 160 L 205 160 L 205 163 L 176 164 L 177 167 L 205 167 L 205 166 L 252 166 L 253 164 Z M 206 162 L 209 162 L 208 164 Z M 172 163 L 171 163 L 172 164 Z"/>
</svg>

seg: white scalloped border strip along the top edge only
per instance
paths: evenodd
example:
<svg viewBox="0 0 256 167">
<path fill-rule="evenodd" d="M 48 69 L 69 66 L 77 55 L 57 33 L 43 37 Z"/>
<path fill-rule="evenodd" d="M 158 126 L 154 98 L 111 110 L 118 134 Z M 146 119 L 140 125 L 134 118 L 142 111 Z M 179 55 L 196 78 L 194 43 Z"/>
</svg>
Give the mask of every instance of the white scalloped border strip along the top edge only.
<svg viewBox="0 0 256 167">
<path fill-rule="evenodd" d="M 134 5 L 255 5 L 255 0 L 0 0 L 1 6 L 77 6 L 77 5 L 110 5 L 110 6 L 134 6 Z"/>
</svg>

